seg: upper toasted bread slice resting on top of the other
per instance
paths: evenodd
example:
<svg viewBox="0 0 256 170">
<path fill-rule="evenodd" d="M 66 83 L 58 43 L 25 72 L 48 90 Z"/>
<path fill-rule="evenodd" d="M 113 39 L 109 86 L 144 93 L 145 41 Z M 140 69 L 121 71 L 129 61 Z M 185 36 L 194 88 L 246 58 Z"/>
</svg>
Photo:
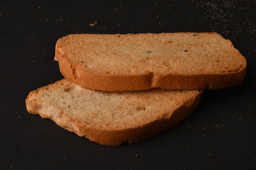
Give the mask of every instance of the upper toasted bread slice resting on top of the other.
<svg viewBox="0 0 256 170">
<path fill-rule="evenodd" d="M 102 91 L 220 89 L 246 72 L 218 33 L 71 34 L 57 41 L 55 60 L 71 82 Z"/>
</svg>

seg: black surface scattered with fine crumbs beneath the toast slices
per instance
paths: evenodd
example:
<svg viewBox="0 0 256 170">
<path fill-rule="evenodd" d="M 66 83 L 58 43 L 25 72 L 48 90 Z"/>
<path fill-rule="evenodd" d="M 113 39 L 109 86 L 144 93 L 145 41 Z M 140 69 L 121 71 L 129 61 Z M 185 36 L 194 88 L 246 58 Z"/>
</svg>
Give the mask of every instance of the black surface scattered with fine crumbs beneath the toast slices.
<svg viewBox="0 0 256 170">
<path fill-rule="evenodd" d="M 95 26 L 90 26 L 97 22 Z M 70 33 L 212 32 L 247 59 L 244 82 L 205 91 L 193 115 L 137 144 L 101 146 L 27 113 L 29 91 L 62 79 Z M 0 1 L 0 169 L 256 169 L 256 1 Z"/>
</svg>

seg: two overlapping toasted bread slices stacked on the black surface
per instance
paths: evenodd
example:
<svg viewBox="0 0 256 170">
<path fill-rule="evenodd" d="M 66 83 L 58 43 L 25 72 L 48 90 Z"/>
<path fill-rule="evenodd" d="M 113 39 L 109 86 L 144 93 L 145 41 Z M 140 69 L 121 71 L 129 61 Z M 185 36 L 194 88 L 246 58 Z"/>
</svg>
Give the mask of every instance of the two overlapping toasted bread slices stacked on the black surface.
<svg viewBox="0 0 256 170">
<path fill-rule="evenodd" d="M 27 111 L 108 146 L 176 126 L 205 89 L 237 86 L 246 72 L 218 33 L 71 34 L 54 59 L 65 78 L 30 92 Z"/>
</svg>

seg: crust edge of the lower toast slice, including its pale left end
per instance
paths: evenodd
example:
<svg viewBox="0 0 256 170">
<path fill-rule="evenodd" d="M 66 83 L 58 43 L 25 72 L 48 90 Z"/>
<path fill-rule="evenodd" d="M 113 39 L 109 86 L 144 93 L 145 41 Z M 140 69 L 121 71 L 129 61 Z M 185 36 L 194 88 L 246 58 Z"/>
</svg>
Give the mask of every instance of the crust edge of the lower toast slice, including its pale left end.
<svg viewBox="0 0 256 170">
<path fill-rule="evenodd" d="M 159 114 L 158 118 L 148 118 L 148 123 L 138 122 L 136 126 L 132 127 L 123 126 L 121 128 L 102 128 L 102 126 L 98 126 L 97 124 L 89 124 L 81 121 L 79 117 L 73 116 L 72 113 L 66 113 L 65 110 L 58 108 L 59 106 L 56 106 L 56 104 L 48 102 L 38 95 L 39 93 L 46 94 L 46 91 L 50 88 L 59 89 L 61 86 L 64 86 L 66 82 L 67 80 L 63 79 L 55 84 L 44 86 L 36 91 L 31 91 L 26 99 L 27 111 L 31 114 L 38 114 L 43 118 L 52 119 L 62 128 L 69 130 L 70 132 L 74 132 L 80 137 L 86 137 L 90 139 L 90 141 L 107 146 L 119 146 L 123 143 L 135 143 L 158 135 L 173 126 L 176 126 L 193 113 L 203 94 L 203 91 L 200 91 L 191 97 L 186 97 L 186 99 L 181 101 L 179 107 L 173 111 L 164 110 L 163 112 L 161 111 L 161 114 L 155 113 Z M 51 91 L 51 89 L 49 91 Z M 47 93 L 47 95 L 49 95 L 49 93 Z M 56 101 L 54 100 L 54 102 Z M 60 103 L 58 103 L 58 105 L 60 105 Z"/>
</svg>

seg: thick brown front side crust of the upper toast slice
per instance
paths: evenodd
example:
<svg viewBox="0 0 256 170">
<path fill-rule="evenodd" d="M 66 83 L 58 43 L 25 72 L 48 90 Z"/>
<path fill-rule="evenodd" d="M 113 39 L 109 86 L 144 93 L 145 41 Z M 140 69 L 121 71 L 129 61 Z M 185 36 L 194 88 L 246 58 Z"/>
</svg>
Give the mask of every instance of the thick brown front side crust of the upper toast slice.
<svg viewBox="0 0 256 170">
<path fill-rule="evenodd" d="M 148 75 L 96 75 L 84 72 L 80 66 L 74 66 L 65 57 L 59 61 L 60 71 L 65 78 L 83 88 L 102 91 L 133 91 L 160 87 L 162 89 L 221 89 L 236 86 L 243 82 L 246 66 L 238 72 L 222 74 L 197 75 L 162 75 L 148 73 Z M 74 75 L 74 70 L 76 76 Z"/>
</svg>

